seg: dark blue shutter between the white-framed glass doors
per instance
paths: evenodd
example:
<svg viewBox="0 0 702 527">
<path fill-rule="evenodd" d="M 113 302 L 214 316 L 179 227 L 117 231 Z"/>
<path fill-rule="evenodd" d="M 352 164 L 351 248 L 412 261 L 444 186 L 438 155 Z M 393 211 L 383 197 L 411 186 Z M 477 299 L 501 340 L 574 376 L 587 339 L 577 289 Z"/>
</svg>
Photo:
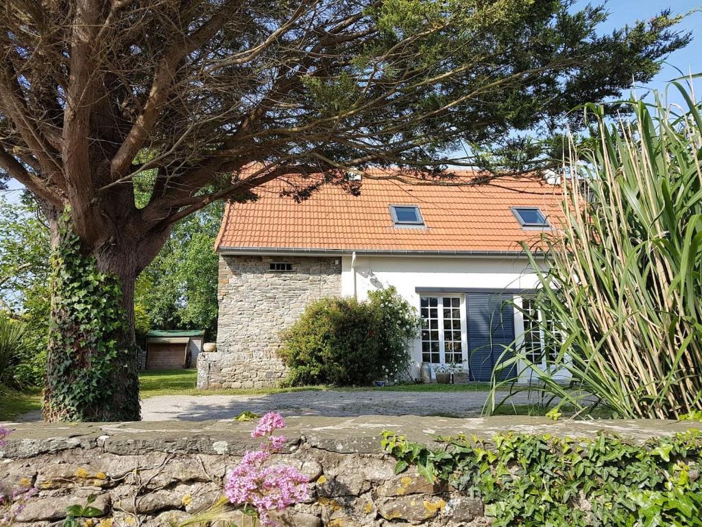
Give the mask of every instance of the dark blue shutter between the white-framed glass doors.
<svg viewBox="0 0 702 527">
<path fill-rule="evenodd" d="M 512 295 L 504 293 L 468 293 L 465 295 L 468 313 L 468 360 L 470 378 L 489 382 L 492 370 L 515 340 Z M 510 353 L 509 356 L 513 354 Z M 503 356 L 503 360 L 508 355 Z M 503 370 L 500 379 L 514 377 L 516 368 Z"/>
</svg>

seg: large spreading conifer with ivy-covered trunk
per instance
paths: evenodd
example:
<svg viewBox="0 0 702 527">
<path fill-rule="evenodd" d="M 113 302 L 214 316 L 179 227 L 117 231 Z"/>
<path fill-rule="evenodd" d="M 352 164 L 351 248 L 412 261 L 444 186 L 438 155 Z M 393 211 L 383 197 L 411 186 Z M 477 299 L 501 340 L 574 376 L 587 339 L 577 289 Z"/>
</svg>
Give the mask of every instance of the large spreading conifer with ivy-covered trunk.
<svg viewBox="0 0 702 527">
<path fill-rule="evenodd" d="M 41 200 L 55 247 L 45 417 L 138 419 L 134 282 L 179 219 L 288 174 L 305 197 L 462 149 L 529 169 L 543 152 L 515 131 L 578 128 L 571 108 L 689 39 L 668 13 L 600 35 L 604 9 L 572 4 L 4 0 L 0 167 Z"/>
</svg>

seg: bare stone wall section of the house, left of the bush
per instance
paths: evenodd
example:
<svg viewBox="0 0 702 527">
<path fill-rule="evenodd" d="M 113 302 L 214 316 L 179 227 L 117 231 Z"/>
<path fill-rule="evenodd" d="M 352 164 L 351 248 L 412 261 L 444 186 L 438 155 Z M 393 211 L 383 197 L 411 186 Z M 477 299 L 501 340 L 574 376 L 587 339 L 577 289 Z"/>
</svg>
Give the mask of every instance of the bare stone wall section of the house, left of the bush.
<svg viewBox="0 0 702 527">
<path fill-rule="evenodd" d="M 220 256 L 217 351 L 201 353 L 197 386 L 264 388 L 285 375 L 277 356 L 280 332 L 310 301 L 341 294 L 341 259 Z M 291 271 L 270 271 L 270 263 Z"/>
</svg>

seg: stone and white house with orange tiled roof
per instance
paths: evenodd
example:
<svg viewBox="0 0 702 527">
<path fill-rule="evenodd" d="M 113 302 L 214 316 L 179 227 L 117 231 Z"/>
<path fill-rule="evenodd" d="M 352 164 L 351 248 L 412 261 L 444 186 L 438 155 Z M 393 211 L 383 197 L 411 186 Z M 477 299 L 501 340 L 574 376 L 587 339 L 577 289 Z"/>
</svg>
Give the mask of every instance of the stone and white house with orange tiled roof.
<svg viewBox="0 0 702 527">
<path fill-rule="evenodd" d="M 543 355 L 538 326 L 522 316 L 538 280 L 521 243 L 538 243 L 559 224 L 562 188 L 543 178 L 475 177 L 373 170 L 359 195 L 322 186 L 302 202 L 274 180 L 256 189 L 256 202 L 228 204 L 216 241 L 218 351 L 201 354 L 198 386 L 275 384 L 285 371 L 279 334 L 310 301 L 365 299 L 390 285 L 423 318 L 414 377 L 423 362 L 461 363 L 470 379 L 489 381 L 515 339 Z"/>
</svg>

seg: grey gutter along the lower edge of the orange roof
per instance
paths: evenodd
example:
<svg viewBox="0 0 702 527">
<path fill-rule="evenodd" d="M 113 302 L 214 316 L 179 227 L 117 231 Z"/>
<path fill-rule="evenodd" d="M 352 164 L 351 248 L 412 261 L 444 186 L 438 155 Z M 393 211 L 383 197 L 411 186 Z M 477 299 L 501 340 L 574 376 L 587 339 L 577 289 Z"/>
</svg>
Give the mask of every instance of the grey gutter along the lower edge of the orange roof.
<svg viewBox="0 0 702 527">
<path fill-rule="evenodd" d="M 218 254 L 270 256 L 353 256 L 353 254 L 369 256 L 527 256 L 524 251 L 410 251 L 388 249 L 300 249 L 283 247 L 218 247 Z M 545 252 L 533 252 L 534 256 L 545 256 Z"/>
</svg>

